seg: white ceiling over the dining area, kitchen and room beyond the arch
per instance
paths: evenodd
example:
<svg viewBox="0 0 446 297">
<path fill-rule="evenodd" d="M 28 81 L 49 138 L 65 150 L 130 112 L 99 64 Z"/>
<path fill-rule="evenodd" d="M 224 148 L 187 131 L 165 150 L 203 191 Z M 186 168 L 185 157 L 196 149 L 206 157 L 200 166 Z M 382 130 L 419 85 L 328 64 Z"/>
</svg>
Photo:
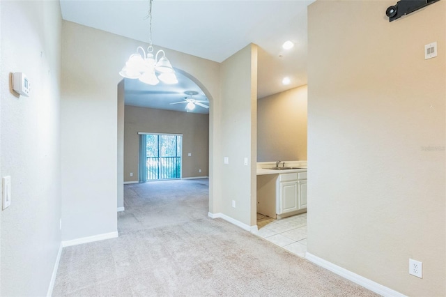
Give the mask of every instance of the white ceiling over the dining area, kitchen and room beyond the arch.
<svg viewBox="0 0 446 297">
<path fill-rule="evenodd" d="M 159 45 L 222 62 L 255 43 L 260 47 L 258 98 L 263 98 L 307 84 L 307 6 L 313 1 L 155 0 L 153 44 L 155 50 Z M 148 0 L 61 0 L 61 10 L 63 20 L 148 42 L 148 20 L 144 20 Z M 295 43 L 291 50 L 282 49 L 286 40 Z M 203 100 L 196 84 L 177 75 L 180 83 L 174 86 L 154 87 L 128 79 L 125 104 L 184 111 L 169 103 L 186 97 L 188 90 L 199 91 L 194 98 Z M 287 86 L 282 84 L 285 76 L 291 79 Z M 194 112 L 207 113 L 197 109 Z"/>
</svg>

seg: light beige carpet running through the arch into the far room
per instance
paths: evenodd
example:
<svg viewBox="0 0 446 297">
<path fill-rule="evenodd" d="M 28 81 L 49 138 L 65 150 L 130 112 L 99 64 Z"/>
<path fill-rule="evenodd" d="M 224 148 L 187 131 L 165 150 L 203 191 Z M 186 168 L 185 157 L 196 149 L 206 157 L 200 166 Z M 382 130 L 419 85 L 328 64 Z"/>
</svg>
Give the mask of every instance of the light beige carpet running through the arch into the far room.
<svg viewBox="0 0 446 297">
<path fill-rule="evenodd" d="M 53 296 L 376 296 L 207 214 L 207 180 L 125 185 L 119 238 L 64 248 Z"/>
</svg>

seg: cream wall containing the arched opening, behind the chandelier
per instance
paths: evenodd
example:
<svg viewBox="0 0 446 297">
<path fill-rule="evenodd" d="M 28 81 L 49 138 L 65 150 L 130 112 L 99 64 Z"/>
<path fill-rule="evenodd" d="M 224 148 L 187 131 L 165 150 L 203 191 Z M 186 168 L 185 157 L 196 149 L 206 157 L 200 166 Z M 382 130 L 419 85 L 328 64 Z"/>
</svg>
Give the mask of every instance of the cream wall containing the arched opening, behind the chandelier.
<svg viewBox="0 0 446 297">
<path fill-rule="evenodd" d="M 63 21 L 63 241 L 116 232 L 116 88 L 122 79 L 118 72 L 140 45 L 147 47 L 136 40 Z M 219 63 L 163 50 L 172 65 L 188 73 L 206 93 L 213 119 L 213 104 L 220 99 Z M 213 123 L 210 129 L 215 129 Z M 210 142 L 211 148 L 215 146 L 215 139 Z M 210 201 L 214 195 L 220 193 L 211 190 Z"/>
</svg>

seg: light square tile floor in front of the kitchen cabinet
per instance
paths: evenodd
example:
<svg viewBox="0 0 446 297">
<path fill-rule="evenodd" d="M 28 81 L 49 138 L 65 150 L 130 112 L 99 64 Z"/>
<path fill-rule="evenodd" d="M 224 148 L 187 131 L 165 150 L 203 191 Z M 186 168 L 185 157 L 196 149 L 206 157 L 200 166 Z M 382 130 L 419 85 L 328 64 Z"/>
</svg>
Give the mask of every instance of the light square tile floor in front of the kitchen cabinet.
<svg viewBox="0 0 446 297">
<path fill-rule="evenodd" d="M 279 247 L 305 258 L 307 252 L 307 213 L 275 220 L 257 213 L 255 234 Z"/>
</svg>

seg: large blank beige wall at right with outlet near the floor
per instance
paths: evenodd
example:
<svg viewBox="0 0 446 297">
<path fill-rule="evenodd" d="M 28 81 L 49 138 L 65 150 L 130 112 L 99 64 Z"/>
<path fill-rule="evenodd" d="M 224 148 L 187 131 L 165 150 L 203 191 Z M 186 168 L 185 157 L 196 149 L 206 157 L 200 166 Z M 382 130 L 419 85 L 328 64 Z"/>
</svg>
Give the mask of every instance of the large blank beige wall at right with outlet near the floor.
<svg viewBox="0 0 446 297">
<path fill-rule="evenodd" d="M 445 296 L 446 2 L 389 22 L 394 3 L 309 6 L 308 252 Z M 433 41 L 438 57 L 424 60 Z"/>
</svg>

